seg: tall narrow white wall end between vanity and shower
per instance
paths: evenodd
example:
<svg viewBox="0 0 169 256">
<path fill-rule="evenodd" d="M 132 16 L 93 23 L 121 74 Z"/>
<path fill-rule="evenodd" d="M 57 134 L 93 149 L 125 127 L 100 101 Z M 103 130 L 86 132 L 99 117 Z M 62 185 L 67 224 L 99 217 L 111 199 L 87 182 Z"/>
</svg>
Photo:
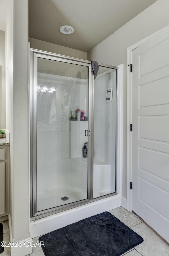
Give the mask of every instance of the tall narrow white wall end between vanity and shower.
<svg viewBox="0 0 169 256">
<path fill-rule="evenodd" d="M 30 236 L 28 153 L 28 0 L 15 0 L 13 7 L 13 186 L 15 188 L 13 204 L 13 234 L 15 240 L 22 240 Z M 19 213 L 18 209 L 20 209 Z"/>
</svg>

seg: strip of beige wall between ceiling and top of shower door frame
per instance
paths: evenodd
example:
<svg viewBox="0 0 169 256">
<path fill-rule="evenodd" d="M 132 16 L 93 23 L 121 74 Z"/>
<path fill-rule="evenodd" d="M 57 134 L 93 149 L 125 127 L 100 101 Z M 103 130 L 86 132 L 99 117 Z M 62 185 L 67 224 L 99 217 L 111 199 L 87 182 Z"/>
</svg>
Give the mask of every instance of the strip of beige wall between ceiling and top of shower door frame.
<svg viewBox="0 0 169 256">
<path fill-rule="evenodd" d="M 54 52 L 57 54 L 62 54 L 62 55 L 71 56 L 78 59 L 87 60 L 87 52 L 82 52 L 69 47 L 56 45 L 54 43 L 48 43 L 48 42 L 41 41 L 31 37 L 29 37 L 29 42 L 31 44 L 31 48 L 33 49 Z"/>
</svg>

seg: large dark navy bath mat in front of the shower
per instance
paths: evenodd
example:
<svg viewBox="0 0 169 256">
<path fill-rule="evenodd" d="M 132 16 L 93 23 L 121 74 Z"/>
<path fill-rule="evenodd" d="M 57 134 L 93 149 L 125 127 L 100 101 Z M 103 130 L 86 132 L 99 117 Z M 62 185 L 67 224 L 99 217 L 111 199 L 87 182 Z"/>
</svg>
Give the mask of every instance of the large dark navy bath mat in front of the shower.
<svg viewBox="0 0 169 256">
<path fill-rule="evenodd" d="M 120 256 L 143 238 L 109 212 L 39 237 L 45 256 Z"/>
</svg>

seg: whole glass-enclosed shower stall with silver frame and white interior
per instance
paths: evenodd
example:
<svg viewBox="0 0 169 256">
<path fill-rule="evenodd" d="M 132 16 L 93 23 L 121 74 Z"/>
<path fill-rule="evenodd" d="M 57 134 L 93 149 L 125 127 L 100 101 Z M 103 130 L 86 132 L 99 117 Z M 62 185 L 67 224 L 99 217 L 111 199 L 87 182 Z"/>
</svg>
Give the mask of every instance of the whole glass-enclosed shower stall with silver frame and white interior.
<svg viewBox="0 0 169 256">
<path fill-rule="evenodd" d="M 118 67 L 94 80 L 90 61 L 35 49 L 30 64 L 31 218 L 116 195 Z"/>
</svg>

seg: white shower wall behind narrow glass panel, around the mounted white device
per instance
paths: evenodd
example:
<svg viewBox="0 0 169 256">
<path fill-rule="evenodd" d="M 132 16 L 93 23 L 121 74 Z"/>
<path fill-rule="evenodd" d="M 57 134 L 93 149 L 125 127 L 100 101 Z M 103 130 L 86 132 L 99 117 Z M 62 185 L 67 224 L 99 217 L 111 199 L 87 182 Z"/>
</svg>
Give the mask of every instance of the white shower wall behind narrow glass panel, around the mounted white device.
<svg viewBox="0 0 169 256">
<path fill-rule="evenodd" d="M 106 101 L 107 89 L 112 101 Z M 116 155 L 116 70 L 97 75 L 94 82 L 94 156 L 115 169 Z"/>
</svg>

